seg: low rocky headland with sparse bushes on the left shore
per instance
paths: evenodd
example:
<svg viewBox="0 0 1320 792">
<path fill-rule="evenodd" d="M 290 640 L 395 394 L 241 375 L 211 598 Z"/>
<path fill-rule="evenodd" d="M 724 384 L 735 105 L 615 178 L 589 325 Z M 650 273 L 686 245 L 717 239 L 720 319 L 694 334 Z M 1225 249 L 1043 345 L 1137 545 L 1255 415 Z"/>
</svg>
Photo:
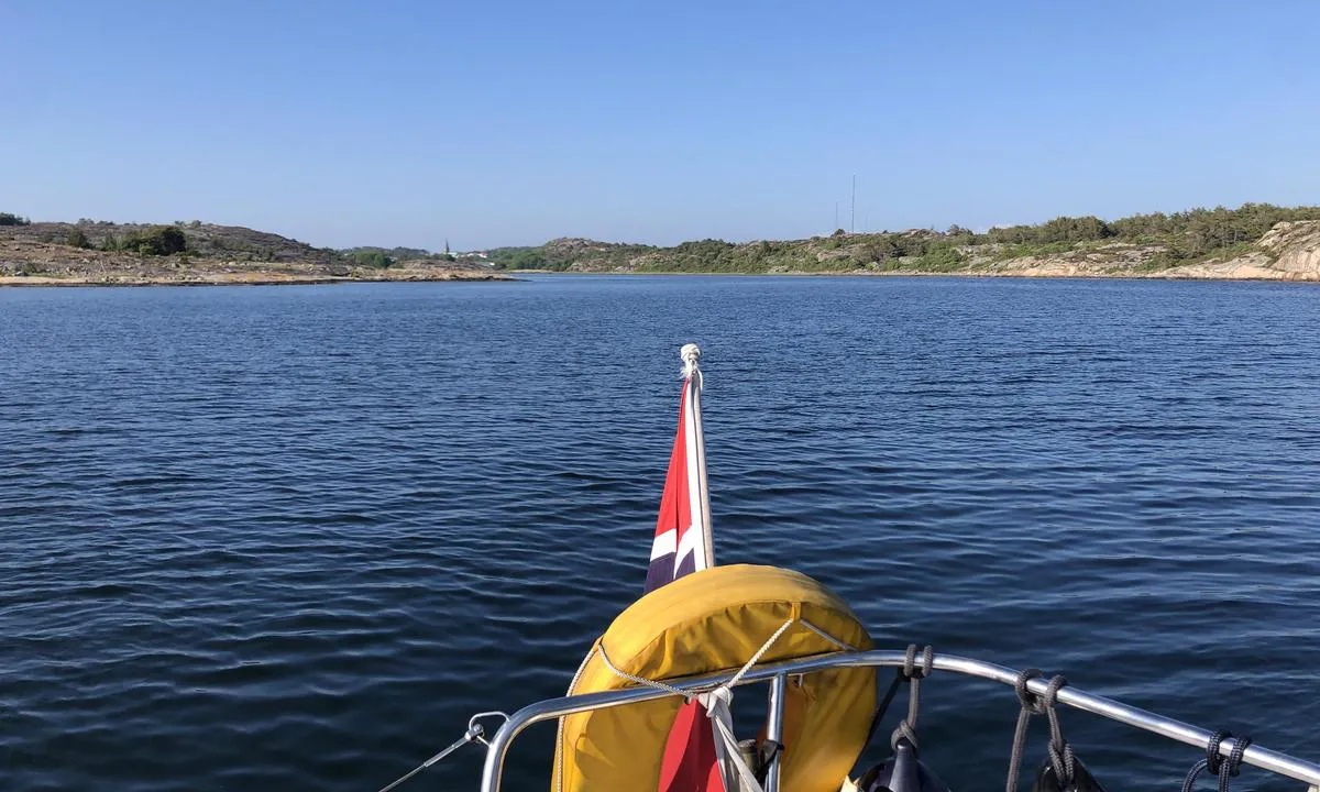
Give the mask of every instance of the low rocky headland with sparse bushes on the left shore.
<svg viewBox="0 0 1320 792">
<path fill-rule="evenodd" d="M 228 285 L 510 280 L 479 256 L 407 248 L 315 248 L 194 220 L 169 226 L 36 223 L 0 213 L 4 285 Z"/>
</svg>

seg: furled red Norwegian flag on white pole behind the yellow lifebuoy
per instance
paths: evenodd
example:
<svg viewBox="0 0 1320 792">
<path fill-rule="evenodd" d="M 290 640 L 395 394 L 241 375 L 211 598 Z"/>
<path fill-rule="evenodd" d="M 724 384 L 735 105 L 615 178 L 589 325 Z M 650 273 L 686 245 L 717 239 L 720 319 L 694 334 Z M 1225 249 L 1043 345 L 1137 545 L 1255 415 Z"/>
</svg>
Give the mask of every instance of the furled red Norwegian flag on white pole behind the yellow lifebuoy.
<svg viewBox="0 0 1320 792">
<path fill-rule="evenodd" d="M 660 517 L 651 544 L 647 591 L 714 566 L 710 541 L 710 503 L 706 492 L 706 449 L 701 433 L 701 350 L 682 347 L 682 397 L 678 433 L 669 453 L 669 473 L 660 496 Z M 725 792 L 715 752 L 714 727 L 706 709 L 688 701 L 669 727 L 657 792 Z"/>
</svg>

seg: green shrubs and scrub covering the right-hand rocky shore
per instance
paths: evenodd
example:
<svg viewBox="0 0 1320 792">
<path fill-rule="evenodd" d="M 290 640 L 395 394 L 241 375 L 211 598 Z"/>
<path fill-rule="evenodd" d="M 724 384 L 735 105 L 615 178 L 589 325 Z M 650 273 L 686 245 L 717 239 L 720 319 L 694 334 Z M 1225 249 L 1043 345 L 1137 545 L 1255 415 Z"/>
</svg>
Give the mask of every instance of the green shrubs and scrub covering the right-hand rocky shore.
<svg viewBox="0 0 1320 792">
<path fill-rule="evenodd" d="M 1140 248 L 1129 260 L 1137 271 L 1228 259 L 1257 249 L 1266 231 L 1282 220 L 1317 220 L 1320 207 L 1246 203 L 1238 209 L 1193 209 L 1175 214 L 1139 214 L 1117 220 L 1060 216 L 1034 226 L 990 228 L 962 226 L 946 231 L 913 230 L 847 234 L 793 242 L 734 244 L 719 239 L 656 248 L 585 239 L 557 239 L 539 247 L 487 251 L 498 269 L 582 269 L 589 272 L 956 272 L 1027 256 L 1092 256 L 1119 260 L 1121 248 Z"/>
</svg>

